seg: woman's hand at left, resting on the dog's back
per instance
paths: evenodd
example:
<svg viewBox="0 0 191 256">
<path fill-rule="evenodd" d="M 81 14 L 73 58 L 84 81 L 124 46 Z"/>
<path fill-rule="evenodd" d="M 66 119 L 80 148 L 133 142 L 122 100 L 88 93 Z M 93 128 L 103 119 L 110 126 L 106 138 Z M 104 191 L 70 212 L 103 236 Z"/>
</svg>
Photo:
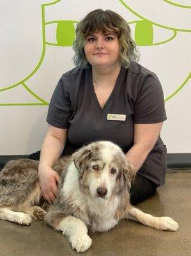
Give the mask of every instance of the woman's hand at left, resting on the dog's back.
<svg viewBox="0 0 191 256">
<path fill-rule="evenodd" d="M 40 188 L 43 198 L 52 204 L 57 195 L 57 185 L 61 178 L 49 166 L 41 167 L 38 170 Z"/>
</svg>

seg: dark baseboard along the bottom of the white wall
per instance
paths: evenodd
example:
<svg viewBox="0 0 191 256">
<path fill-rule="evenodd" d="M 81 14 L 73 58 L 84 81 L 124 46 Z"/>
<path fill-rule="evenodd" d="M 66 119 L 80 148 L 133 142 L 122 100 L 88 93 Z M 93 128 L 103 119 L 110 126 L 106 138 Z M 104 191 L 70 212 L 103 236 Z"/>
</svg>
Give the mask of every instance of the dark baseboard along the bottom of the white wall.
<svg viewBox="0 0 191 256">
<path fill-rule="evenodd" d="M 0 170 L 3 168 L 4 164 L 13 159 L 26 158 L 37 160 L 40 156 L 39 152 L 27 155 L 17 155 L 17 156 L 0 156 Z M 167 166 L 168 169 L 185 169 L 191 168 L 191 153 L 181 153 L 181 154 L 167 154 Z"/>
</svg>

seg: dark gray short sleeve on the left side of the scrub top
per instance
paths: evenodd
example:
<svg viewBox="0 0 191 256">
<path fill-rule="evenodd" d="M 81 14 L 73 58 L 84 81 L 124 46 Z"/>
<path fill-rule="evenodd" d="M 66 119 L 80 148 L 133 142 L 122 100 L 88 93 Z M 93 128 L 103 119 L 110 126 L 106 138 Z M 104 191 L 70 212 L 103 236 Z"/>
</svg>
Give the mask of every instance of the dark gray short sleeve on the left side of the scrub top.
<svg viewBox="0 0 191 256">
<path fill-rule="evenodd" d="M 47 122 L 57 128 L 67 129 L 71 115 L 70 93 L 64 76 L 59 79 L 52 94 L 47 115 Z"/>
</svg>

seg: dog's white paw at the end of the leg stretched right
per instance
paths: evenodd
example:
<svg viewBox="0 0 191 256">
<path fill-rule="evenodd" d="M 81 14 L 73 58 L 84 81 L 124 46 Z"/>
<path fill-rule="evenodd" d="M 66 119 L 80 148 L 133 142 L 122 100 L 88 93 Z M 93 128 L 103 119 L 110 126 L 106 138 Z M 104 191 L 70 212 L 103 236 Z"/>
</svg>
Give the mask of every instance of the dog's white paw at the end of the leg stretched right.
<svg viewBox="0 0 191 256">
<path fill-rule="evenodd" d="M 159 230 L 178 230 L 178 223 L 170 217 L 159 217 L 157 224 Z"/>
</svg>

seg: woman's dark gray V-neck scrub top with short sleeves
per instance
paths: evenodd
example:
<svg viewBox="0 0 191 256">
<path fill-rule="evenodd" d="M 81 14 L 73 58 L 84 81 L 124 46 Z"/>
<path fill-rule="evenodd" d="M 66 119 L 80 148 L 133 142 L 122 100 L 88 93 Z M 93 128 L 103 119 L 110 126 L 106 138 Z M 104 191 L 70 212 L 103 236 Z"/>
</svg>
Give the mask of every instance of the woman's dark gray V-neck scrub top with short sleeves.
<svg viewBox="0 0 191 256">
<path fill-rule="evenodd" d="M 125 121 L 108 120 L 108 114 L 125 115 Z M 164 94 L 157 76 L 134 61 L 128 68 L 121 67 L 103 108 L 93 87 L 91 65 L 66 72 L 57 83 L 47 115 L 50 125 L 68 129 L 65 155 L 96 140 L 112 141 L 126 153 L 134 145 L 134 124 L 166 119 Z M 159 137 L 138 173 L 157 185 L 164 184 L 166 155 Z"/>
</svg>

